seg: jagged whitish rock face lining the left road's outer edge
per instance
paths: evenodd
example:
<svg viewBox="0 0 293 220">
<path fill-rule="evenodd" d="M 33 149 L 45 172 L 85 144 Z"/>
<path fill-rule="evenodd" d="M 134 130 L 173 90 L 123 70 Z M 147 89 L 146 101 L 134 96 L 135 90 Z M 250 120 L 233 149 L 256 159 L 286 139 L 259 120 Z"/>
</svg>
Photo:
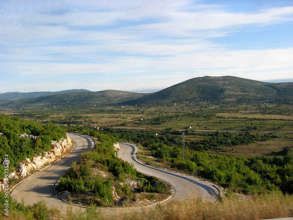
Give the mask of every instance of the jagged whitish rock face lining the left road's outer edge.
<svg viewBox="0 0 293 220">
<path fill-rule="evenodd" d="M 31 135 L 30 135 L 31 136 Z M 36 137 L 36 136 L 32 136 Z M 28 138 L 32 138 L 28 137 Z M 32 159 L 25 158 L 18 166 L 18 175 L 25 177 L 30 175 L 30 172 L 40 170 L 44 165 L 49 165 L 58 159 L 58 156 L 62 155 L 62 152 L 66 152 L 71 148 L 71 138 L 63 138 L 60 141 L 52 141 L 53 147 L 51 151 L 45 152 L 44 155 L 36 156 Z"/>
</svg>

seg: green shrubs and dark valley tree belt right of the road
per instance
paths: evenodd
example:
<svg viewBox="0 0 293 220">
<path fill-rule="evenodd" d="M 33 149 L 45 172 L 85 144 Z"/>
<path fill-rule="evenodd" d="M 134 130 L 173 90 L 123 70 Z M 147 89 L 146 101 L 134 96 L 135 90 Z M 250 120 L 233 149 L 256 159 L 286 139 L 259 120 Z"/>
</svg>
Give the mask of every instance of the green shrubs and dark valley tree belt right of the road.
<svg viewBox="0 0 293 220">
<path fill-rule="evenodd" d="M 76 128 L 76 127 L 74 127 Z M 81 128 L 79 128 L 81 129 Z M 87 131 L 85 127 L 82 128 Z M 88 130 L 88 133 L 92 131 Z M 142 145 L 151 151 L 159 161 L 171 163 L 172 168 L 199 175 L 226 187 L 233 192 L 244 194 L 262 194 L 271 191 L 293 193 L 293 156 L 292 148 L 284 148 L 284 159 L 266 156 L 244 158 L 236 155 L 211 154 L 205 150 L 224 149 L 224 146 L 250 144 L 276 138 L 274 134 L 253 135 L 246 133 L 208 132 L 209 138 L 187 143 L 186 159 L 182 159 L 181 137 L 178 131 L 166 129 L 160 131 L 126 131 L 123 129 L 103 128 L 103 131 L 116 139 L 145 142 Z M 176 135 L 173 135 L 176 134 Z M 291 169 L 291 170 L 290 170 Z"/>
</svg>

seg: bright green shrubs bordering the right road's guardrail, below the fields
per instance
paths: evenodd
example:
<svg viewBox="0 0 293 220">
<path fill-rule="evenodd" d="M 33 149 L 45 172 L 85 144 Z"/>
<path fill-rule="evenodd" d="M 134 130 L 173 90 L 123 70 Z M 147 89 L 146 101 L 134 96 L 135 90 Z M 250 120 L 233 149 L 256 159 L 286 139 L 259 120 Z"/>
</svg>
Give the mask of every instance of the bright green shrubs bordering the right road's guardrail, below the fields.
<svg viewBox="0 0 293 220">
<path fill-rule="evenodd" d="M 284 159 L 266 156 L 243 158 L 235 155 L 211 154 L 191 149 L 182 159 L 181 149 L 163 142 L 143 143 L 152 155 L 170 162 L 173 168 L 198 175 L 233 192 L 261 194 L 276 190 L 293 193 L 293 156 L 286 148 Z M 162 162 L 162 161 L 161 161 Z"/>
</svg>

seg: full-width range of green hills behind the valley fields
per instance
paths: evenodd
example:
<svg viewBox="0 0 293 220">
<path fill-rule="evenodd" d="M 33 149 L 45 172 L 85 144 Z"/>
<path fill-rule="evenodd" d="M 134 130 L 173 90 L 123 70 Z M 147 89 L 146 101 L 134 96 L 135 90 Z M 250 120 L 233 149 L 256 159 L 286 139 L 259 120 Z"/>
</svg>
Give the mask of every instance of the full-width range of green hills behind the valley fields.
<svg viewBox="0 0 293 220">
<path fill-rule="evenodd" d="M 275 101 L 293 102 L 293 82 L 270 83 L 234 76 L 197 77 L 153 93 L 135 93 L 118 90 L 98 92 L 74 90 L 59 94 L 25 98 L 21 100 L 0 100 L 1 106 L 48 107 L 48 106 L 113 106 L 113 105 L 173 105 L 183 102 L 222 101 Z M 0 94 L 4 95 L 4 94 Z"/>
</svg>

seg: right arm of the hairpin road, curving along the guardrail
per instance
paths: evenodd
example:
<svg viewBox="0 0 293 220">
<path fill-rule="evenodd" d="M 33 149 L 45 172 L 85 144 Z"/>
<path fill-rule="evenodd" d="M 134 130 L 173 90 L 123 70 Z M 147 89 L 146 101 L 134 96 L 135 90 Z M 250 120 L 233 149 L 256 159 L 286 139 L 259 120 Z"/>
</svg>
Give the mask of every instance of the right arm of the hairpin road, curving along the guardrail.
<svg viewBox="0 0 293 220">
<path fill-rule="evenodd" d="M 119 143 L 119 145 L 121 150 L 118 153 L 118 157 L 133 163 L 137 171 L 164 180 L 174 187 L 172 199 L 190 200 L 201 198 L 203 202 L 217 201 L 219 191 L 214 186 L 195 177 L 146 165 L 136 157 L 137 145 L 130 143 Z"/>
</svg>

